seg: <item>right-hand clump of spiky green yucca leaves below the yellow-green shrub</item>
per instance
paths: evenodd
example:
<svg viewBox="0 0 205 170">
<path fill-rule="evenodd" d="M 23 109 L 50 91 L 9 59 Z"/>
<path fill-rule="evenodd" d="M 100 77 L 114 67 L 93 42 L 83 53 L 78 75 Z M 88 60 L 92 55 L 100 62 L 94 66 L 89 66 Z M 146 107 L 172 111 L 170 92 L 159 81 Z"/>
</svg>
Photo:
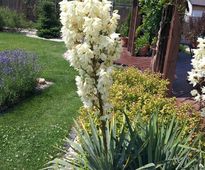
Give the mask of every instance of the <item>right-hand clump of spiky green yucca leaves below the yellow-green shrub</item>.
<svg viewBox="0 0 205 170">
<path fill-rule="evenodd" d="M 126 116 L 126 115 L 125 115 Z M 200 135 L 192 141 L 193 132 L 184 135 L 184 128 L 173 118 L 169 124 L 158 125 L 158 116 L 154 114 L 147 125 L 138 125 L 133 129 L 129 119 L 127 124 L 130 133 L 132 151 L 127 150 L 132 158 L 128 169 L 139 168 L 153 163 L 154 169 L 196 169 L 202 165 L 204 154 L 200 149 L 194 149 L 199 143 Z"/>
</svg>

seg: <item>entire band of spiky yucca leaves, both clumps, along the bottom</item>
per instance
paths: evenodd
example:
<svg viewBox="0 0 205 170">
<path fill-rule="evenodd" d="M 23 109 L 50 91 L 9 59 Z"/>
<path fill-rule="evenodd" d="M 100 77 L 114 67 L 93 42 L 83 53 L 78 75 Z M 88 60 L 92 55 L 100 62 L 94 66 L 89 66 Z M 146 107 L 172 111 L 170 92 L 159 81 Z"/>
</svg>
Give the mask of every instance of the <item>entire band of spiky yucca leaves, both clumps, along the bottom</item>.
<svg viewBox="0 0 205 170">
<path fill-rule="evenodd" d="M 190 145 L 192 134 L 182 138 L 183 128 L 178 126 L 174 118 L 169 125 L 162 127 L 158 126 L 157 120 L 157 115 L 153 115 L 147 125 L 135 126 L 125 115 L 119 133 L 115 118 L 107 121 L 107 150 L 102 133 L 91 118 L 89 131 L 75 123 L 78 142 L 67 141 L 76 155 L 73 158 L 55 159 L 49 169 L 171 170 L 202 166 L 198 156 L 204 152 L 192 148 L 199 139 Z"/>
</svg>

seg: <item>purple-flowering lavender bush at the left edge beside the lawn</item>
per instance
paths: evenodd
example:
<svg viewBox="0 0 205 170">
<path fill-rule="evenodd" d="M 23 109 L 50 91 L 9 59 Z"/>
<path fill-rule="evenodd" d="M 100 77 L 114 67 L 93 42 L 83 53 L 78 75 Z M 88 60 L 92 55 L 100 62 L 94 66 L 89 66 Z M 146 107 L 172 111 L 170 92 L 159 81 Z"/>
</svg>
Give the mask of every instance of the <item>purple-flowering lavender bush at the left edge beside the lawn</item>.
<svg viewBox="0 0 205 170">
<path fill-rule="evenodd" d="M 21 50 L 0 52 L 0 111 L 36 86 L 36 56 Z"/>
</svg>

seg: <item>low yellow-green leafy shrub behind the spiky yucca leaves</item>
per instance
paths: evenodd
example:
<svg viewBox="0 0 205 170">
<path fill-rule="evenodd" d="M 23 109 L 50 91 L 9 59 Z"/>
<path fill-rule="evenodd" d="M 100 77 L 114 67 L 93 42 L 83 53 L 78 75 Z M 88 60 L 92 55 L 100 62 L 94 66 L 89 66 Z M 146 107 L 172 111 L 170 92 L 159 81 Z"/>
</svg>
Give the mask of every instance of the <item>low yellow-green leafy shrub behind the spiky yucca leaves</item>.
<svg viewBox="0 0 205 170">
<path fill-rule="evenodd" d="M 110 103 L 119 122 L 126 108 L 126 114 L 136 123 L 146 122 L 153 113 L 158 113 L 159 122 L 169 122 L 173 116 L 182 124 L 186 122 L 185 133 L 199 127 L 200 115 L 190 105 L 177 106 L 175 98 L 166 97 L 168 82 L 159 74 L 128 68 L 115 71 L 113 78 Z M 80 112 L 81 120 L 85 121 L 86 114 L 91 111 L 82 108 Z"/>
</svg>

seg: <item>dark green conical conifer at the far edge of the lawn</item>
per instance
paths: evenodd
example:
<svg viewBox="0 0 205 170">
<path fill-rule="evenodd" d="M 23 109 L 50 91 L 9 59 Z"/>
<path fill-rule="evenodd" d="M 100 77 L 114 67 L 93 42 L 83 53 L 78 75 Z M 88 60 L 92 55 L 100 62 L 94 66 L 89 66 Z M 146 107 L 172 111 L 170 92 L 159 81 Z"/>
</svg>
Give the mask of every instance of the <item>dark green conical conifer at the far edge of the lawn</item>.
<svg viewBox="0 0 205 170">
<path fill-rule="evenodd" d="M 38 36 L 44 38 L 60 37 L 60 21 L 57 18 L 55 4 L 43 1 L 38 16 Z"/>
</svg>

